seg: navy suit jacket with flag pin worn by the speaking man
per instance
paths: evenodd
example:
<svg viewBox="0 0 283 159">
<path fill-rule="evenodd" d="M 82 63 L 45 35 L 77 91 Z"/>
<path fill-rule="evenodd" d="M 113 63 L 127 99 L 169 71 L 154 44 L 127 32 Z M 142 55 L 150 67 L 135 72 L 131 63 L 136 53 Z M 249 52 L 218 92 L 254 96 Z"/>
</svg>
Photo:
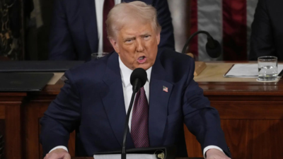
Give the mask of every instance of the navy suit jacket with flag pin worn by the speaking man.
<svg viewBox="0 0 283 159">
<path fill-rule="evenodd" d="M 178 144 L 185 123 L 202 148 L 219 146 L 230 156 L 219 114 L 193 80 L 194 70 L 191 57 L 159 49 L 149 85 L 150 146 Z M 67 147 L 69 133 L 75 129 L 79 137 L 76 155 L 120 150 L 126 110 L 117 53 L 70 69 L 65 75 L 68 80 L 40 121 L 44 154 L 55 146 Z M 134 148 L 130 135 L 127 148 Z"/>
</svg>

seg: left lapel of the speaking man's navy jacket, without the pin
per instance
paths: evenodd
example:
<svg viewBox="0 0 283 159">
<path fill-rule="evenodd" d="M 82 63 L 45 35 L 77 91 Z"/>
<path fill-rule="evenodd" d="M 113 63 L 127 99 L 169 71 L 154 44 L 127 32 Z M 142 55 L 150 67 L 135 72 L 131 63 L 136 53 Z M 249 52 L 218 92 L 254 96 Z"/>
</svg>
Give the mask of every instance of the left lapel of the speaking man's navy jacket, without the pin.
<svg viewBox="0 0 283 159">
<path fill-rule="evenodd" d="M 105 112 L 108 115 L 112 131 L 115 134 L 117 141 L 122 146 L 126 110 L 118 54 L 116 52 L 112 53 L 108 59 L 103 81 L 106 85 L 106 91 L 105 89 L 102 90 L 100 95 L 103 100 Z M 134 148 L 134 143 L 132 142 L 129 131 L 127 134 L 127 148 Z"/>
</svg>

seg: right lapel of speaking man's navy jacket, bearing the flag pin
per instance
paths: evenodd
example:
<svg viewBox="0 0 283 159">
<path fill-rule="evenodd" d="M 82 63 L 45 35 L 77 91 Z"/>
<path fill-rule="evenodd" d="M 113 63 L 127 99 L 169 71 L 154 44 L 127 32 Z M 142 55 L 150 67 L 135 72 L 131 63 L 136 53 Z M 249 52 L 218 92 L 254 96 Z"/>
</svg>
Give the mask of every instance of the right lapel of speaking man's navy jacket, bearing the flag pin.
<svg viewBox="0 0 283 159">
<path fill-rule="evenodd" d="M 173 90 L 173 84 L 168 82 L 167 73 L 158 57 L 152 67 L 149 87 L 149 141 L 151 146 L 163 144 L 163 133 L 168 115 L 168 101 Z M 163 86 L 168 92 L 163 91 Z"/>
</svg>

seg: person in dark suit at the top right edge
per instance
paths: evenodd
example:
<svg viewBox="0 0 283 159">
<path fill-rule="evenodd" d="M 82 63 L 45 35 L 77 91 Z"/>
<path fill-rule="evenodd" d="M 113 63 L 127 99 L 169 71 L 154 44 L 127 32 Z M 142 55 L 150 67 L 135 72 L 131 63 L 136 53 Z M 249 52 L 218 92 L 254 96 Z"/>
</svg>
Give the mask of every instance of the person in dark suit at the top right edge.
<svg viewBox="0 0 283 159">
<path fill-rule="evenodd" d="M 282 0 L 259 0 L 250 37 L 250 60 L 275 56 L 283 60 Z"/>
</svg>

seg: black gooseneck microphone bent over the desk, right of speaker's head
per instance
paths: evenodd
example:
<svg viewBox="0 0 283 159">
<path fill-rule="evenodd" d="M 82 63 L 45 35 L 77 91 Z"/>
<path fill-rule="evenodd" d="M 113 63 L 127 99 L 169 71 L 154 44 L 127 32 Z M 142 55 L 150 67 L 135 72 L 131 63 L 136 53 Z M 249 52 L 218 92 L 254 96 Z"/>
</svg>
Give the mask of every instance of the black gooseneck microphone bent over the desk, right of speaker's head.
<svg viewBox="0 0 283 159">
<path fill-rule="evenodd" d="M 222 53 L 220 43 L 217 40 L 214 40 L 212 35 L 210 35 L 207 31 L 204 31 L 204 30 L 197 31 L 193 33 L 192 35 L 190 35 L 190 37 L 187 39 L 187 42 L 185 43 L 183 47 L 182 54 L 185 54 L 187 45 L 190 44 L 190 41 L 192 40 L 192 38 L 195 37 L 195 35 L 198 35 L 200 33 L 207 35 L 207 45 L 205 45 L 205 49 L 207 50 L 207 54 L 209 55 L 209 57 L 212 57 L 212 58 L 219 57 Z"/>
</svg>

